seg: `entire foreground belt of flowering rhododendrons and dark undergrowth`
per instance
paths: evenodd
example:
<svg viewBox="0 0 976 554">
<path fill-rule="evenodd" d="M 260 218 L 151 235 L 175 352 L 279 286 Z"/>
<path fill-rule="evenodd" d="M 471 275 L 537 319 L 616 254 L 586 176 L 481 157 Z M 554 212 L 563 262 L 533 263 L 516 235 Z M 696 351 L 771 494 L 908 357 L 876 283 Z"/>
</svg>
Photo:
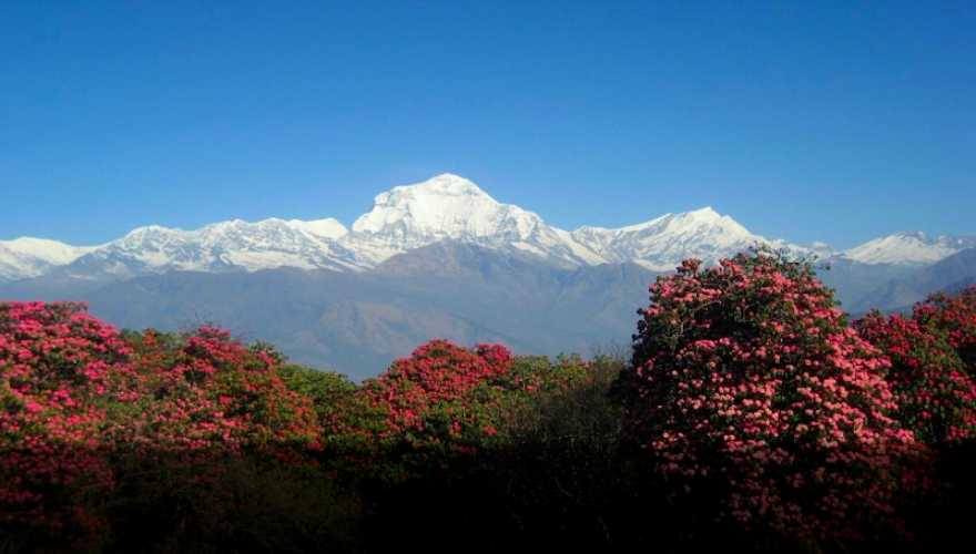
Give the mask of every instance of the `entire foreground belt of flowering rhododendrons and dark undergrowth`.
<svg viewBox="0 0 976 554">
<path fill-rule="evenodd" d="M 848 322 L 770 253 L 662 276 L 630 360 L 431 340 L 354 383 L 0 304 L 0 552 L 923 551 L 974 492 L 976 288 Z"/>
</svg>

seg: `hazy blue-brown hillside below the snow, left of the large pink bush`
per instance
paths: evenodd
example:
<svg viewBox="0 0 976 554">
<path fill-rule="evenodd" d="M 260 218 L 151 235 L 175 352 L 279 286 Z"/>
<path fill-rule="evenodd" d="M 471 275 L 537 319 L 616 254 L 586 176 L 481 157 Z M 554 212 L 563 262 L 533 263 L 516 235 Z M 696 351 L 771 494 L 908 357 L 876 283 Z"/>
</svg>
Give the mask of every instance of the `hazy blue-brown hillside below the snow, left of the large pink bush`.
<svg viewBox="0 0 976 554">
<path fill-rule="evenodd" d="M 296 361 L 364 378 L 433 337 L 551 355 L 627 346 L 654 275 L 634 264 L 568 269 L 445 243 L 365 274 L 172 271 L 77 293 L 21 283 L 0 295 L 85 300 L 129 328 L 215 324 L 272 341 Z"/>
</svg>

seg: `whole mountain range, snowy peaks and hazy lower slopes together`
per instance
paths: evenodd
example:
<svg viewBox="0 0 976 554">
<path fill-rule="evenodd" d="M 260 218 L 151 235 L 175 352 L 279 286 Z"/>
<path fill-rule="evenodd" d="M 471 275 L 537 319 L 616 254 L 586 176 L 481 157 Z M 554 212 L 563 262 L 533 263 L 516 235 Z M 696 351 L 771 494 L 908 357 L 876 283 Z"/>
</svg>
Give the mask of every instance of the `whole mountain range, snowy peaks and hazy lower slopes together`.
<svg viewBox="0 0 976 554">
<path fill-rule="evenodd" d="M 815 257 L 855 312 L 976 280 L 976 237 L 897 233 L 834 250 L 753 234 L 711 207 L 565 230 L 444 174 L 379 194 L 352 228 L 235 219 L 98 246 L 0 240 L 0 298 L 87 300 L 125 327 L 213 322 L 366 377 L 434 336 L 539 353 L 626 347 L 655 275 L 760 244 Z"/>
</svg>

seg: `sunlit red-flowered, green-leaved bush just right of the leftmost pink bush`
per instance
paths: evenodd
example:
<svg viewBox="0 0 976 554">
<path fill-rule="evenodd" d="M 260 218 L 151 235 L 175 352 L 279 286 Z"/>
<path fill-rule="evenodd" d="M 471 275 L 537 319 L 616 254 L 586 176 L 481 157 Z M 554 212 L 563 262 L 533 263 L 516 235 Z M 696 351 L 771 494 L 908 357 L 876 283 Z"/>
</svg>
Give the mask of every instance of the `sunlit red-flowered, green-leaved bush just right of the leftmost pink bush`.
<svg viewBox="0 0 976 554">
<path fill-rule="evenodd" d="M 289 390 L 279 358 L 221 329 L 130 337 L 142 401 L 116 431 L 145 451 L 206 452 L 318 448 L 311 401 Z"/>
</svg>

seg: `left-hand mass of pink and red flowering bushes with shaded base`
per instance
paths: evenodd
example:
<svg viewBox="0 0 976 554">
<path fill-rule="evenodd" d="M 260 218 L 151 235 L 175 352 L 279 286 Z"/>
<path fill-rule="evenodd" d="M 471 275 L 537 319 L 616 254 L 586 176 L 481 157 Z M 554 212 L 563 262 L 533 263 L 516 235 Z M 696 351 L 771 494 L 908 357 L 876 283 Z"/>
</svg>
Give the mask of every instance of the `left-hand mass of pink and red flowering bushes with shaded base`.
<svg viewBox="0 0 976 554">
<path fill-rule="evenodd" d="M 0 551 L 350 546 L 358 502 L 281 357 L 0 304 Z M 236 546 L 235 546 L 236 545 Z"/>
</svg>

